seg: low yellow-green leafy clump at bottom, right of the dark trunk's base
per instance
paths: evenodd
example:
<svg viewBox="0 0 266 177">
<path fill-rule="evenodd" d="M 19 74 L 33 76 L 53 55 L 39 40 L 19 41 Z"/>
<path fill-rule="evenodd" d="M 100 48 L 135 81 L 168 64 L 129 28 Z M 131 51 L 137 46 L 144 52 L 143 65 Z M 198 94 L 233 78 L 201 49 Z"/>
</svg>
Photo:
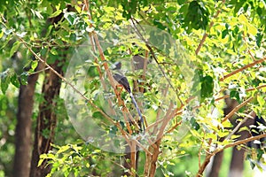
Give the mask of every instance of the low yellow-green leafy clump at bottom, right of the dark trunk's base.
<svg viewBox="0 0 266 177">
<path fill-rule="evenodd" d="M 110 158 L 112 154 L 95 149 L 89 143 L 76 141 L 63 146 L 53 145 L 53 147 L 56 153 L 42 154 L 39 161 L 41 165 L 43 160 L 49 159 L 49 163 L 53 165 L 50 175 L 86 176 L 91 172 L 100 172 L 102 175 L 112 171 L 119 172 L 117 166 L 113 164 L 117 159 Z"/>
</svg>

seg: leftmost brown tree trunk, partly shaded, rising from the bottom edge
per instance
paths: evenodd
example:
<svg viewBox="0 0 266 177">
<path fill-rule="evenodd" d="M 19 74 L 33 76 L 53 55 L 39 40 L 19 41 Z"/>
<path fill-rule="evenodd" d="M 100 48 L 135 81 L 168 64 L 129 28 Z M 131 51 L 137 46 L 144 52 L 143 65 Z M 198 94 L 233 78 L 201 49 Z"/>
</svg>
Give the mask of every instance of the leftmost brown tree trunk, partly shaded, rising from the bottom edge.
<svg viewBox="0 0 266 177">
<path fill-rule="evenodd" d="M 37 70 L 41 66 L 38 66 Z M 28 76 L 27 85 L 20 85 L 19 110 L 16 126 L 16 150 L 14 156 L 13 173 L 14 177 L 27 177 L 30 169 L 30 152 L 32 145 L 32 112 L 34 105 L 35 83 L 38 73 Z"/>
</svg>

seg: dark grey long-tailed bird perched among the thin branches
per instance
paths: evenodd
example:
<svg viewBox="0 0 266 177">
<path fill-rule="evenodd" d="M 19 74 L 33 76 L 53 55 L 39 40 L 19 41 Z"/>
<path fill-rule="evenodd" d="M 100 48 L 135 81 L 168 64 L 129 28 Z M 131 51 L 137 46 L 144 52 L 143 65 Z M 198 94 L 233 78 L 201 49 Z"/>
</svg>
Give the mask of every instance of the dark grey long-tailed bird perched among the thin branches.
<svg viewBox="0 0 266 177">
<path fill-rule="evenodd" d="M 129 96 L 131 97 L 132 103 L 135 105 L 137 114 L 139 116 L 140 122 L 141 122 L 141 129 L 143 128 L 143 131 L 145 132 L 145 124 L 144 124 L 144 119 L 143 116 L 138 108 L 137 102 L 135 97 L 133 96 L 133 93 L 130 89 L 129 81 L 127 77 L 121 72 L 121 62 L 115 62 L 114 67 L 113 67 L 113 79 L 117 81 L 128 93 Z"/>
</svg>

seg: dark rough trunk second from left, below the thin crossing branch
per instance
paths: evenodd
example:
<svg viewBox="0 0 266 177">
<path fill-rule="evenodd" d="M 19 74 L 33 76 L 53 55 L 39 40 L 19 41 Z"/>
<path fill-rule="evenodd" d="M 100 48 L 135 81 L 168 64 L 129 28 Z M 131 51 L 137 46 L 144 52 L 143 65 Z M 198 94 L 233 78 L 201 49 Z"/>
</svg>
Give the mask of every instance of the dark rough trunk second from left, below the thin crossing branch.
<svg viewBox="0 0 266 177">
<path fill-rule="evenodd" d="M 63 74 L 63 65 L 59 66 L 59 60 L 57 61 L 51 67 L 58 73 Z M 57 106 L 55 98 L 59 96 L 60 87 L 61 80 L 59 77 L 51 70 L 46 71 L 42 91 L 44 101 L 39 105 L 39 114 L 35 127 L 35 143 L 30 168 L 31 177 L 43 177 L 51 171 L 51 167 L 46 164 L 46 161 L 43 161 L 43 164 L 38 167 L 37 165 L 40 155 L 51 150 L 57 122 L 57 115 L 53 109 Z"/>
</svg>

